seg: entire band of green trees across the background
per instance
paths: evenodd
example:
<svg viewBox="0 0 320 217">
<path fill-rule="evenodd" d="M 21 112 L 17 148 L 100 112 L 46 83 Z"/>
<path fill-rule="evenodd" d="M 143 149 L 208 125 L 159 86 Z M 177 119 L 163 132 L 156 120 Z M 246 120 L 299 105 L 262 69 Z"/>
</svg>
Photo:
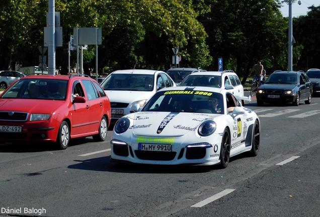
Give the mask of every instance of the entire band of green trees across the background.
<svg viewBox="0 0 320 217">
<path fill-rule="evenodd" d="M 243 82 L 257 60 L 267 73 L 287 69 L 288 18 L 279 0 L 56 0 L 63 28 L 63 47 L 56 47 L 56 66 L 67 74 L 64 50 L 74 27 L 101 27 L 99 73 L 115 69 L 169 69 L 172 48 L 179 48 L 180 67 L 232 69 Z M 293 69 L 320 67 L 320 5 L 293 19 Z M 39 64 L 47 0 L 3 0 L 0 4 L 0 69 Z M 84 51 L 86 74 L 95 71 L 95 46 Z M 76 53 L 71 51 L 71 66 Z"/>
</svg>

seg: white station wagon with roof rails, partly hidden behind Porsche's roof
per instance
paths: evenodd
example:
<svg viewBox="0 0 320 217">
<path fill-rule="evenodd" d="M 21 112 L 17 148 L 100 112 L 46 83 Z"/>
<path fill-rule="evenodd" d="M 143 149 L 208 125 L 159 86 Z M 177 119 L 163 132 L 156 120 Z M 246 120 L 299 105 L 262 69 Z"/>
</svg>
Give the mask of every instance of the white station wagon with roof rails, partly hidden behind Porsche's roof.
<svg viewBox="0 0 320 217">
<path fill-rule="evenodd" d="M 218 87 L 229 90 L 242 105 L 245 105 L 245 100 L 251 101 L 251 96 L 245 96 L 244 86 L 232 70 L 193 72 L 179 86 Z"/>
</svg>

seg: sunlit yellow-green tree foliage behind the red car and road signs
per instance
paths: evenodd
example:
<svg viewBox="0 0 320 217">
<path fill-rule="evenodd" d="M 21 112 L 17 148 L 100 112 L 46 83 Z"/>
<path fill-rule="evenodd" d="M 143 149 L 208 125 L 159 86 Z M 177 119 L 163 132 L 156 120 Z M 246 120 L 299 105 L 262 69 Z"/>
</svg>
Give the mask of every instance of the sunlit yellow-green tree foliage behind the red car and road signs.
<svg viewBox="0 0 320 217">
<path fill-rule="evenodd" d="M 48 1 L 5 0 L 0 7 L 6 12 L 1 15 L 0 55 L 16 54 L 14 58 L 20 64 L 37 65 L 37 47 L 43 47 Z M 206 10 L 203 1 L 197 1 L 196 5 L 178 0 L 55 1 L 65 44 L 73 35 L 74 27 L 102 27 L 99 59 L 103 61 L 99 62 L 99 68 L 107 64 L 117 68 L 132 68 L 136 64 L 144 68 L 166 68 L 170 65 L 173 47 L 181 49 L 185 66 L 209 65 L 207 35 L 196 20 L 199 13 Z M 67 48 L 66 45 L 63 48 Z M 68 58 L 63 48 L 56 48 L 56 66 L 66 69 Z M 88 52 L 91 50 L 95 47 L 90 46 Z M 9 68 L 10 62 L 10 58 L 3 61 L 2 68 Z M 75 62 L 73 54 L 71 62 Z M 95 58 L 87 59 L 86 64 L 90 67 L 94 62 Z"/>
</svg>

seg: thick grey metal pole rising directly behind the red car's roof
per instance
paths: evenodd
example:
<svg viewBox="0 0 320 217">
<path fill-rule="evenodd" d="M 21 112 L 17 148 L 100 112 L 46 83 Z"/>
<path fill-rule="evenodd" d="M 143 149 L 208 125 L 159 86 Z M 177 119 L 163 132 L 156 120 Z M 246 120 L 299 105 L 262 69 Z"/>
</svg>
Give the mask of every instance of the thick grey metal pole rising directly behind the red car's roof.
<svg viewBox="0 0 320 217">
<path fill-rule="evenodd" d="M 55 21 L 54 21 L 55 5 L 54 0 L 49 0 L 48 6 L 48 74 L 55 74 Z"/>
</svg>

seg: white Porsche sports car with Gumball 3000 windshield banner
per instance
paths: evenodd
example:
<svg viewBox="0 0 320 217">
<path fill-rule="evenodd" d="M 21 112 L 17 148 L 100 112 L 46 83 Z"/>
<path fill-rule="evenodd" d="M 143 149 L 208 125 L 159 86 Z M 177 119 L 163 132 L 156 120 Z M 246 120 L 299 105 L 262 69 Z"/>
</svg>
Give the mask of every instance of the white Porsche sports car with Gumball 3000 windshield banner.
<svg viewBox="0 0 320 217">
<path fill-rule="evenodd" d="M 112 162 L 226 168 L 232 156 L 259 152 L 260 120 L 229 90 L 164 88 L 132 109 L 114 126 Z"/>
</svg>

